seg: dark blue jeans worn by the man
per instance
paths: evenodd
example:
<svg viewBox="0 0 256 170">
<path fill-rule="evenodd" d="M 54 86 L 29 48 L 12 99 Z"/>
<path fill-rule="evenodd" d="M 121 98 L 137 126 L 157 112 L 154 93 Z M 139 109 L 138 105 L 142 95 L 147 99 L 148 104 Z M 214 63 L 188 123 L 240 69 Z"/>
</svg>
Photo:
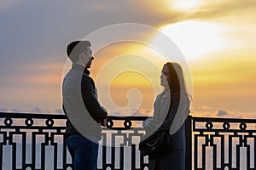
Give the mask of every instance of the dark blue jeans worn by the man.
<svg viewBox="0 0 256 170">
<path fill-rule="evenodd" d="M 96 170 L 99 144 L 79 134 L 68 136 L 66 142 L 73 159 L 74 170 Z"/>
</svg>

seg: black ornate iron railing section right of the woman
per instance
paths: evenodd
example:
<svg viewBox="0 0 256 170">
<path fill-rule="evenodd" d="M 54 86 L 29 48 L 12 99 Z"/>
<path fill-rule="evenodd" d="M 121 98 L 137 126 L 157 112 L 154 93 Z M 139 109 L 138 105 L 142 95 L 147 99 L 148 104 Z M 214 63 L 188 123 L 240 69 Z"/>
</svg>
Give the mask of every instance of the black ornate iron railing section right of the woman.
<svg viewBox="0 0 256 170">
<path fill-rule="evenodd" d="M 256 120 L 193 117 L 194 169 L 256 169 Z"/>
</svg>

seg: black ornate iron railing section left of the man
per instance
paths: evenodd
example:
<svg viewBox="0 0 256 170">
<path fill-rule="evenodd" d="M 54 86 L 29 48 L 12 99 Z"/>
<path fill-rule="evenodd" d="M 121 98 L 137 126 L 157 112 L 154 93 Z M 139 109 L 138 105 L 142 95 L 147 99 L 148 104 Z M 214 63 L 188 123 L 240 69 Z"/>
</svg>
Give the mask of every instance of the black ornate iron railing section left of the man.
<svg viewBox="0 0 256 170">
<path fill-rule="evenodd" d="M 72 167 L 64 115 L 0 113 L 0 119 L 0 169 Z"/>
</svg>

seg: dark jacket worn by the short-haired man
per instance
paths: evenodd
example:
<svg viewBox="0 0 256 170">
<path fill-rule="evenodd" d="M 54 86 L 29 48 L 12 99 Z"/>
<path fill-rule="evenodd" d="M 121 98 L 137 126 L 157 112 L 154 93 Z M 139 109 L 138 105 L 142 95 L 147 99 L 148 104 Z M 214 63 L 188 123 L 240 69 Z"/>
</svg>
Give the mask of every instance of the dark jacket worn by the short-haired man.
<svg viewBox="0 0 256 170">
<path fill-rule="evenodd" d="M 98 102 L 95 83 L 89 74 L 83 66 L 74 64 L 62 82 L 62 106 L 67 115 L 65 135 L 80 133 L 99 140 L 100 122 L 107 117 L 107 112 Z"/>
</svg>

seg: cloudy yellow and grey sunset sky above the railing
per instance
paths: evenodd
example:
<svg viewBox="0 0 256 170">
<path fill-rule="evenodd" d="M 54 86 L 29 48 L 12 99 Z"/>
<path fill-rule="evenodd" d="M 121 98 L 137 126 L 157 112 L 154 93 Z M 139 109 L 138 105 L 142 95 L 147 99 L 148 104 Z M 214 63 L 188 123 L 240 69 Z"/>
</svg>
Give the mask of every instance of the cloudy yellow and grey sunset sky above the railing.
<svg viewBox="0 0 256 170">
<path fill-rule="evenodd" d="M 61 113 L 67 43 L 105 26 L 136 23 L 164 33 L 182 52 L 193 80 L 192 116 L 255 118 L 255 11 L 255 0 L 1 0 L 0 111 Z M 91 77 L 109 115 L 132 115 L 138 107 L 150 114 L 162 90 L 163 55 L 137 42 L 94 54 Z"/>
</svg>

